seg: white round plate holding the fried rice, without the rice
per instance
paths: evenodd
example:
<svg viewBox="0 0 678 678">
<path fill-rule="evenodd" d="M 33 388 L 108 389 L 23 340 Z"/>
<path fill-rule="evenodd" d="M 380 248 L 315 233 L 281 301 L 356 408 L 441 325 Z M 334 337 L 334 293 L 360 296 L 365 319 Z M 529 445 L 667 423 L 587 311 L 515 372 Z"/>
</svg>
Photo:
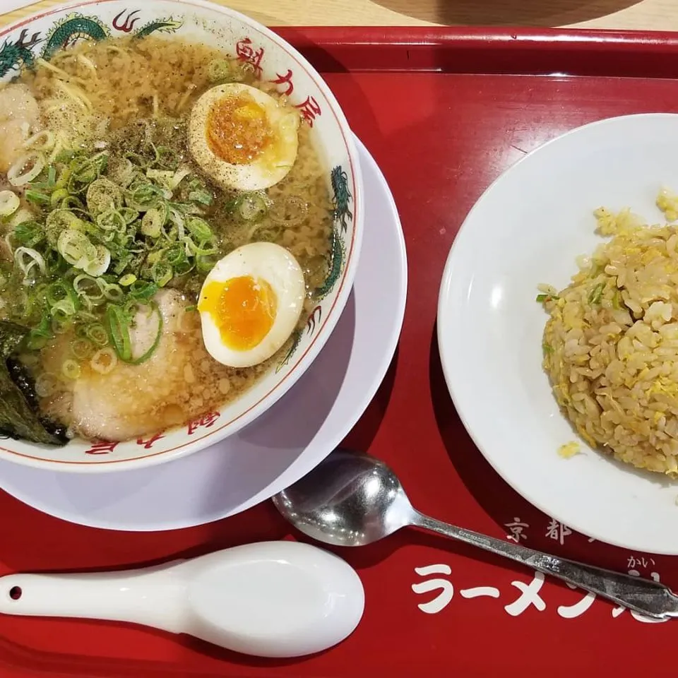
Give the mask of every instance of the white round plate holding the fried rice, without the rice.
<svg viewBox="0 0 678 678">
<path fill-rule="evenodd" d="M 660 188 L 678 190 L 678 115 L 602 120 L 513 165 L 470 211 L 443 275 L 438 335 L 448 388 L 466 429 L 525 499 L 585 535 L 678 554 L 678 483 L 640 472 L 578 440 L 542 371 L 538 283 L 561 289 L 575 258 L 602 242 L 593 210 L 626 206 L 663 221 Z"/>
</svg>

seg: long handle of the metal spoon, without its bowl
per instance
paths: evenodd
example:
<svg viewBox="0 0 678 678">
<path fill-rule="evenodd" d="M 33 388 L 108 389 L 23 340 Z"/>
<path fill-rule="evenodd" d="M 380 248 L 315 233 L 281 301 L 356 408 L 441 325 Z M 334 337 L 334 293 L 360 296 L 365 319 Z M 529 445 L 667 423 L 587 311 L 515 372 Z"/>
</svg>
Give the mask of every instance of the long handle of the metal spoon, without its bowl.
<svg viewBox="0 0 678 678">
<path fill-rule="evenodd" d="M 624 605 L 636 612 L 654 619 L 678 617 L 678 596 L 669 588 L 656 581 L 648 581 L 605 570 L 600 567 L 584 565 L 575 561 L 551 556 L 540 551 L 528 549 L 494 537 L 487 537 L 471 530 L 457 528 L 415 511 L 412 524 L 432 532 L 457 539 L 466 544 L 477 546 L 537 571 L 558 577 L 569 584 Z"/>
</svg>

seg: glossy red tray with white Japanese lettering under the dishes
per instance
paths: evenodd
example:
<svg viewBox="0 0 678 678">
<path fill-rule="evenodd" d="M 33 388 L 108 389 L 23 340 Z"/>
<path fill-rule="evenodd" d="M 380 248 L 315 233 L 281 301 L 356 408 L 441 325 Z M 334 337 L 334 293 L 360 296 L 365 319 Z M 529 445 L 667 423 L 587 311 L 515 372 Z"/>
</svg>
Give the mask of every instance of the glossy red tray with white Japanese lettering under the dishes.
<svg viewBox="0 0 678 678">
<path fill-rule="evenodd" d="M 422 511 L 678 588 L 678 559 L 590 542 L 504 484 L 458 420 L 435 339 L 444 261 L 482 191 L 567 129 L 678 111 L 678 37 L 379 28 L 280 34 L 324 74 L 381 165 L 408 246 L 400 347 L 347 444 L 391 463 Z M 220 523 L 155 534 L 70 525 L 6 494 L 0 515 L 0 573 L 138 566 L 298 536 L 268 502 Z M 409 530 L 338 552 L 359 571 L 367 607 L 355 634 L 321 655 L 256 660 L 140 627 L 4 617 L 0 677 L 629 676 L 672 665 L 671 623 L 646 623 L 470 547 Z"/>
</svg>

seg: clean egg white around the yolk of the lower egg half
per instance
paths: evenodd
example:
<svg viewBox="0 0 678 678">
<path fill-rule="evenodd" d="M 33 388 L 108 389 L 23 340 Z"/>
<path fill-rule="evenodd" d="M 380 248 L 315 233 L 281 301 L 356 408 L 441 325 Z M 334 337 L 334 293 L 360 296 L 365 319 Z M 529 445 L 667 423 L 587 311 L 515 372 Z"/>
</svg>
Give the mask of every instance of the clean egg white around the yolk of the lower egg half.
<svg viewBox="0 0 678 678">
<path fill-rule="evenodd" d="M 280 245 L 253 242 L 234 249 L 216 263 L 203 283 L 201 297 L 206 285 L 224 283 L 242 275 L 266 280 L 275 292 L 278 305 L 268 333 L 260 343 L 244 351 L 225 346 L 211 314 L 200 311 L 206 349 L 216 361 L 229 367 L 258 365 L 280 349 L 297 326 L 306 296 L 304 273 L 295 257 Z"/>
</svg>

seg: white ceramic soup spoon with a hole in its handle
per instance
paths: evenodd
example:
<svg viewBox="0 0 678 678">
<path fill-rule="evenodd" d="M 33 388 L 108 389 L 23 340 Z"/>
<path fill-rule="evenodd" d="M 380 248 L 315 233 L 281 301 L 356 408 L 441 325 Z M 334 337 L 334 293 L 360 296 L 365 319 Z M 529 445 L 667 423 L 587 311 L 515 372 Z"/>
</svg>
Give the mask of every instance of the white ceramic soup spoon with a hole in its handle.
<svg viewBox="0 0 678 678">
<path fill-rule="evenodd" d="M 298 542 L 260 542 L 121 572 L 0 577 L 0 612 L 133 622 L 260 657 L 349 636 L 364 609 L 351 566 Z"/>
</svg>

